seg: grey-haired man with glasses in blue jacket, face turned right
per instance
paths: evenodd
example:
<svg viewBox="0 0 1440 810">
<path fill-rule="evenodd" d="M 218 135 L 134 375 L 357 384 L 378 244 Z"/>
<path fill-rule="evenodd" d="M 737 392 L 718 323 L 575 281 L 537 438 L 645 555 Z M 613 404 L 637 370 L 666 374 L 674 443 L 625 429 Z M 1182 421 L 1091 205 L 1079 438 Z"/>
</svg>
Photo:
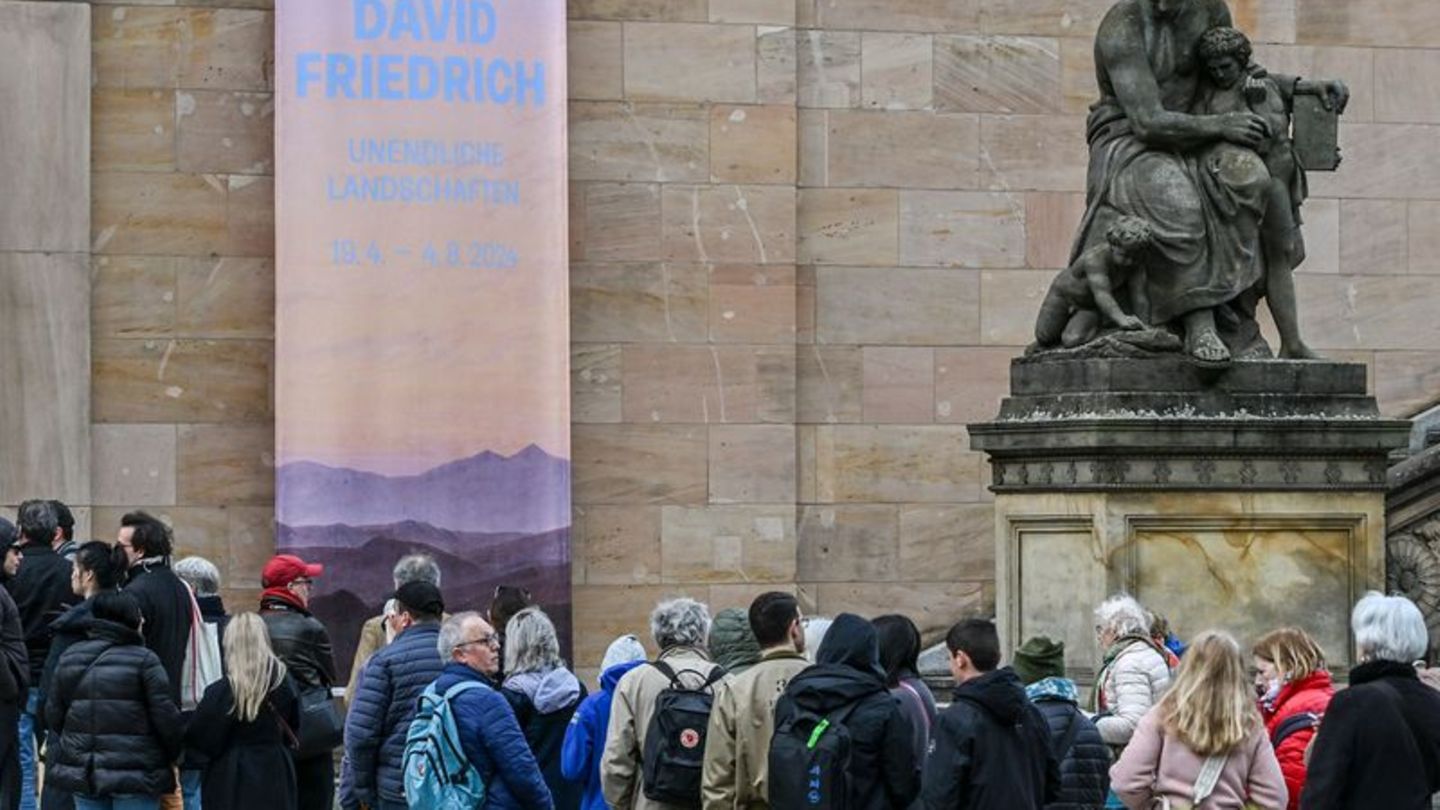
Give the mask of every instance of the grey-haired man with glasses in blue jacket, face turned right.
<svg viewBox="0 0 1440 810">
<path fill-rule="evenodd" d="M 459 613 L 445 620 L 439 633 L 445 670 L 435 680 L 444 695 L 452 686 L 474 680 L 452 700 L 455 728 L 465 758 L 485 783 L 485 810 L 552 810 L 550 788 L 520 731 L 516 712 L 495 689 L 500 672 L 500 636 L 478 613 Z"/>
</svg>

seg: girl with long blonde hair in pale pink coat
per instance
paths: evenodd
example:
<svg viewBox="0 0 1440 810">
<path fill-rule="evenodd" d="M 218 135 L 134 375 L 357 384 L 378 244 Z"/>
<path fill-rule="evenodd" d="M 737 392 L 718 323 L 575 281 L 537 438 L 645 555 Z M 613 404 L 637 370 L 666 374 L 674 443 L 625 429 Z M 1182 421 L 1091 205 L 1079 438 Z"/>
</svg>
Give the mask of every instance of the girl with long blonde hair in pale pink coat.
<svg viewBox="0 0 1440 810">
<path fill-rule="evenodd" d="M 1233 637 L 1194 640 L 1110 768 L 1110 787 L 1132 810 L 1284 810 L 1284 777 Z"/>
</svg>

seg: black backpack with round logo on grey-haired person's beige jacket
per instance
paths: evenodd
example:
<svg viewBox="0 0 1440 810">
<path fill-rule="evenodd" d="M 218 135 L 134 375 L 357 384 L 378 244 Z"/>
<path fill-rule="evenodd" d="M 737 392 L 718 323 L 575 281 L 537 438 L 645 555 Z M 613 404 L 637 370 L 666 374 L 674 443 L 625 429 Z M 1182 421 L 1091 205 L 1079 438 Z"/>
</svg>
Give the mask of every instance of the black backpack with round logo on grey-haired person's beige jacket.
<svg viewBox="0 0 1440 810">
<path fill-rule="evenodd" d="M 649 666 L 668 677 L 670 686 L 655 698 L 655 713 L 649 716 L 645 731 L 645 798 L 700 807 L 710 706 L 714 703 L 714 685 L 726 676 L 726 670 L 717 666 L 704 676 L 693 669 L 675 672 L 665 662 L 651 662 Z M 687 689 L 680 682 L 680 675 L 685 672 L 704 677 L 704 682 L 696 689 Z"/>
</svg>

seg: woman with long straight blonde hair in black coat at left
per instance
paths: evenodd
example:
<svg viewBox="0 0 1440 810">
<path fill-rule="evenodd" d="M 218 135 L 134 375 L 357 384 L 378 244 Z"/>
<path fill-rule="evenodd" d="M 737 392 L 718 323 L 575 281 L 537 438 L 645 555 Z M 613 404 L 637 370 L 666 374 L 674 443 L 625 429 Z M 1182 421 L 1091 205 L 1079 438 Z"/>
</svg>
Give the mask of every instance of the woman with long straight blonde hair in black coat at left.
<svg viewBox="0 0 1440 810">
<path fill-rule="evenodd" d="M 186 748 L 206 760 L 204 810 L 300 810 L 291 747 L 300 692 L 271 651 L 265 621 L 242 613 L 225 630 L 225 677 L 204 690 Z"/>
</svg>

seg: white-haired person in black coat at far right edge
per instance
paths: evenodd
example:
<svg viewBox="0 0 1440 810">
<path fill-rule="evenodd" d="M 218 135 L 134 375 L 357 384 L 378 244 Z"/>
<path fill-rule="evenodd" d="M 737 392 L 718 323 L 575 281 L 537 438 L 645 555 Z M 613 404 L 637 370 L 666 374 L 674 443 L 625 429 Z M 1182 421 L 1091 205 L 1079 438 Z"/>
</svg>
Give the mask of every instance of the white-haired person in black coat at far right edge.
<svg viewBox="0 0 1440 810">
<path fill-rule="evenodd" d="M 1440 692 L 1416 673 L 1430 640 L 1424 615 L 1404 597 L 1371 592 L 1351 630 L 1361 664 L 1320 721 L 1300 807 L 1428 809 L 1440 791 Z"/>
</svg>

